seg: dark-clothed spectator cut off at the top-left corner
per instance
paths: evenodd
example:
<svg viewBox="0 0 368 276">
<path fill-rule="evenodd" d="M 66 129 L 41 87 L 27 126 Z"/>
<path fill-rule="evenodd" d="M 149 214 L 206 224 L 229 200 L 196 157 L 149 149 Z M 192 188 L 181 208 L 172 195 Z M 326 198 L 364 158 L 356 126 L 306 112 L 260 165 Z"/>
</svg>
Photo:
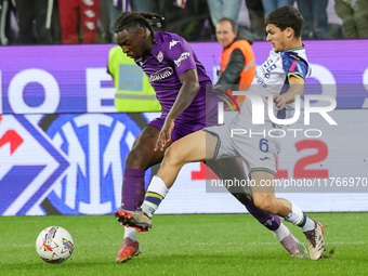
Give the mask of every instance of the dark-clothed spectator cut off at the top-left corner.
<svg viewBox="0 0 368 276">
<path fill-rule="evenodd" d="M 11 27 L 11 15 L 15 13 L 14 0 L 0 0 L 0 45 L 12 44 L 15 34 Z"/>
</svg>

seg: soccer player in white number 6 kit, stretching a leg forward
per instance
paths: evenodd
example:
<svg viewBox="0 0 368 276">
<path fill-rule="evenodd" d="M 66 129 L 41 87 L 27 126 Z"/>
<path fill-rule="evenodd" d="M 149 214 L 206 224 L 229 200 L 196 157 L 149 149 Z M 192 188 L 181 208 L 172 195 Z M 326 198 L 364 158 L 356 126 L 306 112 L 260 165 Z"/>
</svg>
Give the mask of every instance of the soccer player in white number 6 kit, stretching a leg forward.
<svg viewBox="0 0 368 276">
<path fill-rule="evenodd" d="M 121 209 L 124 215 L 120 222 L 123 225 L 143 231 L 152 227 L 150 218 L 183 165 L 240 156 L 254 184 L 252 193 L 255 206 L 300 226 L 306 236 L 311 259 L 323 257 L 326 250 L 323 225 L 311 220 L 298 206 L 277 198 L 274 187 L 265 185 L 275 179 L 276 157 L 280 148 L 280 139 L 276 137 L 280 126 L 274 121 L 291 117 L 294 98 L 303 95 L 304 80 L 311 74 L 301 40 L 303 17 L 299 11 L 291 5 L 276 9 L 265 23 L 267 41 L 273 44 L 273 49 L 268 58 L 258 67 L 240 114 L 228 124 L 206 128 L 174 142 L 166 150 L 161 168 L 147 188 L 141 210 Z M 268 116 L 268 103 L 273 105 L 272 117 Z M 260 107 L 264 107 L 262 113 L 257 111 Z M 263 119 L 263 123 L 252 122 L 260 119 Z M 273 135 L 264 136 L 268 131 L 273 131 Z M 157 150 L 162 150 L 165 145 L 162 142 Z"/>
</svg>

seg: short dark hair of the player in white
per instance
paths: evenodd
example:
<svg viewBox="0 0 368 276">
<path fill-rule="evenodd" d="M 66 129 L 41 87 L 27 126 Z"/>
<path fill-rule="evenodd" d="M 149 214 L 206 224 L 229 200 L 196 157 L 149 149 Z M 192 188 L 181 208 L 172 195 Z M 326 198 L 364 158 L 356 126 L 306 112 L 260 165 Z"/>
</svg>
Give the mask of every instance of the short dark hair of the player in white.
<svg viewBox="0 0 368 276">
<path fill-rule="evenodd" d="M 302 32 L 303 21 L 303 16 L 292 5 L 284 5 L 272 11 L 267 15 L 265 24 L 274 24 L 280 28 L 280 30 L 290 27 L 294 30 L 294 36 L 299 38 Z"/>
</svg>

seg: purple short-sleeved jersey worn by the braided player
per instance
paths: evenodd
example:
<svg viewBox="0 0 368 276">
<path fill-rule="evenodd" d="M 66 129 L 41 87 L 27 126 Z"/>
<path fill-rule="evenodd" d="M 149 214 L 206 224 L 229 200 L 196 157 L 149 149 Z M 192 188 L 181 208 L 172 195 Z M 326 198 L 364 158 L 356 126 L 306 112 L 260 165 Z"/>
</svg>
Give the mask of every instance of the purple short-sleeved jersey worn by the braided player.
<svg viewBox="0 0 368 276">
<path fill-rule="evenodd" d="M 184 38 L 172 32 L 155 31 L 155 39 L 150 54 L 135 60 L 135 63 L 143 68 L 155 89 L 162 115 L 169 113 L 178 97 L 182 87 L 180 76 L 188 69 L 196 69 L 200 89 L 176 121 L 205 120 L 206 86 L 212 86 L 205 67 Z"/>
</svg>

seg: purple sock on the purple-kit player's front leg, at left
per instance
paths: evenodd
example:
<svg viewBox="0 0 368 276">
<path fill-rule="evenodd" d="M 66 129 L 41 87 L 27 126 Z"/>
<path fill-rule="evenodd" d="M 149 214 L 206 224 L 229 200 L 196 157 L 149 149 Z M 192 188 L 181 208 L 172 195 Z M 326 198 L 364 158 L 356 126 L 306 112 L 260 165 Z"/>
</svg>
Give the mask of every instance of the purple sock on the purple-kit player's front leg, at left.
<svg viewBox="0 0 368 276">
<path fill-rule="evenodd" d="M 123 209 L 134 211 L 139 208 L 145 195 L 145 172 L 134 168 L 124 169 L 121 188 L 121 206 Z"/>
</svg>

